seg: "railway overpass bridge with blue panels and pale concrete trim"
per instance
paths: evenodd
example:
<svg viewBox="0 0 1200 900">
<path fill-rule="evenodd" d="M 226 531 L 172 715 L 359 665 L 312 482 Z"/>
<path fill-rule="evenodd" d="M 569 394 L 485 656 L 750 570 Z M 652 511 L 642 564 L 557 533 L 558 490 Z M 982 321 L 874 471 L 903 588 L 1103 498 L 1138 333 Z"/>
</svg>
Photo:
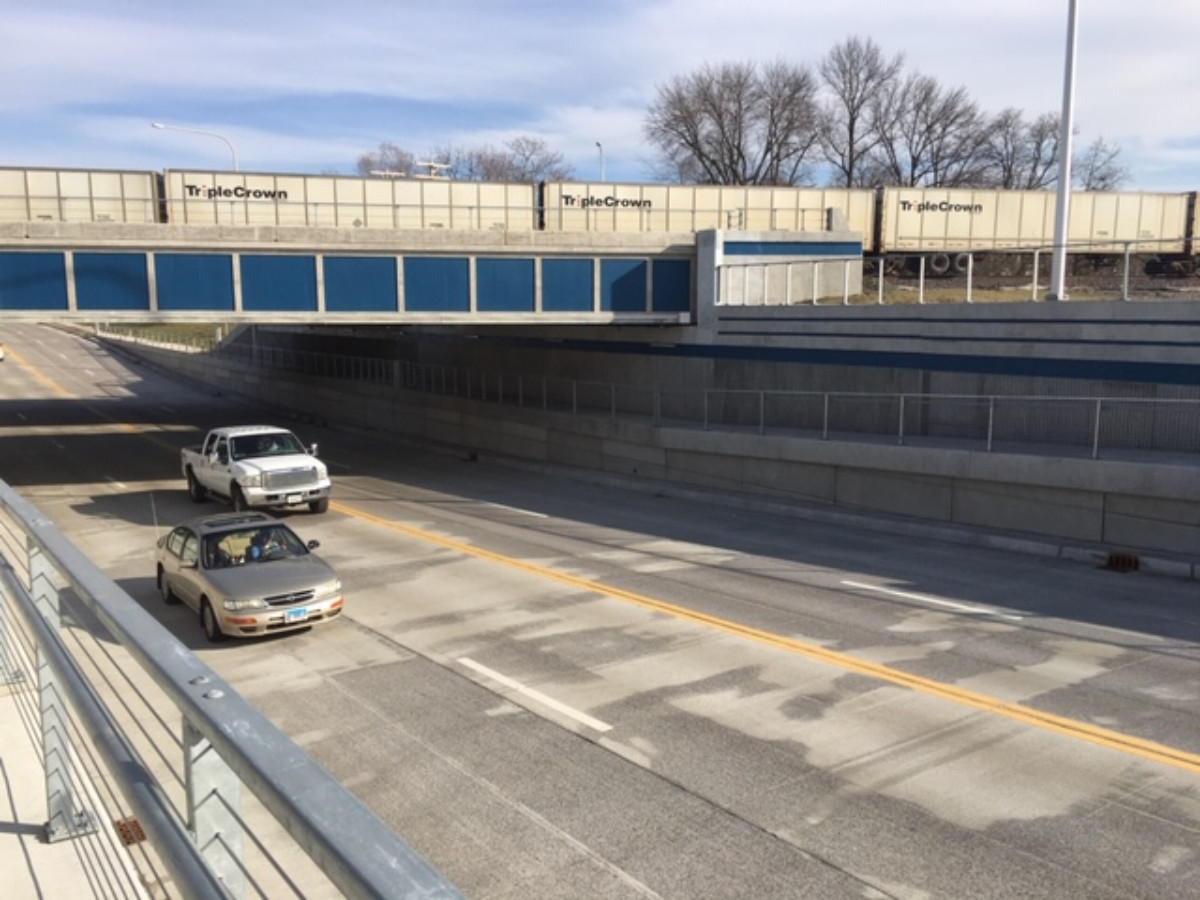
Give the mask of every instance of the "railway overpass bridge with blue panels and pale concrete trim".
<svg viewBox="0 0 1200 900">
<path fill-rule="evenodd" d="M 862 258 L 845 232 L 11 222 L 0 320 L 697 325 L 721 290 L 780 304 L 857 293 Z"/>
</svg>

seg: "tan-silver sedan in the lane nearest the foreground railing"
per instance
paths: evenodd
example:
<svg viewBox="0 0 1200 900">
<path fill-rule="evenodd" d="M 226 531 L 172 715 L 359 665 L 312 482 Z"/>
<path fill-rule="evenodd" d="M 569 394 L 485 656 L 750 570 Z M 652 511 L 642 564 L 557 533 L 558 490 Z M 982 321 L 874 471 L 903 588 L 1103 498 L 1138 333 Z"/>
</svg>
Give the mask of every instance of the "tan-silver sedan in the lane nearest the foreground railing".
<svg viewBox="0 0 1200 900">
<path fill-rule="evenodd" d="M 212 642 L 308 628 L 343 605 L 317 546 L 265 512 L 199 516 L 158 539 L 158 592 L 196 610 Z"/>
</svg>

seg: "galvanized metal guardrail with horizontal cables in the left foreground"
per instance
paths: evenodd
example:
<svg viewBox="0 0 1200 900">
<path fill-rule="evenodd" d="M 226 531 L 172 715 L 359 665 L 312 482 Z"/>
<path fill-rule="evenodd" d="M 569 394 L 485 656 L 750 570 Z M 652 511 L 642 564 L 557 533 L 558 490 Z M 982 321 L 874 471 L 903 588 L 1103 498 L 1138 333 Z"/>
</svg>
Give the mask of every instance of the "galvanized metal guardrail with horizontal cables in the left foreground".
<svg viewBox="0 0 1200 900">
<path fill-rule="evenodd" d="M 89 842 L 97 895 L 461 898 L 2 481 L 0 679 L 43 761 L 46 838 Z"/>
</svg>

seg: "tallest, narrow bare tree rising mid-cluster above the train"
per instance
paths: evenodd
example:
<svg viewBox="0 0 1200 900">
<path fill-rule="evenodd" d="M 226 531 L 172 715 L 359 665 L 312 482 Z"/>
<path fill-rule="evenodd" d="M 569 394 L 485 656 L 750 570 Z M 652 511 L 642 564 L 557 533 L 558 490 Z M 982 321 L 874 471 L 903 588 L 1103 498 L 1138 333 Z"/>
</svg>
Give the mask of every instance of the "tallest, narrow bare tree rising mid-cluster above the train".
<svg viewBox="0 0 1200 900">
<path fill-rule="evenodd" d="M 870 38 L 851 37 L 821 60 L 818 71 L 833 94 L 821 108 L 821 149 L 845 187 L 871 184 L 863 162 L 880 139 L 872 120 L 872 103 L 900 76 L 904 55 L 886 59 Z"/>
</svg>

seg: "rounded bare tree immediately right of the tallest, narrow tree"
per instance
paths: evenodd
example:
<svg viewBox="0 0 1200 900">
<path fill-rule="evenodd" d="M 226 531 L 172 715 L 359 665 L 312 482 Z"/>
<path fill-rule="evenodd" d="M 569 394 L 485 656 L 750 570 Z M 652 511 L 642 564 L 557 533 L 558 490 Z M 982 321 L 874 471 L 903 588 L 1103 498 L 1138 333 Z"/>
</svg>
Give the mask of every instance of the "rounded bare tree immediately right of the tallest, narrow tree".
<svg viewBox="0 0 1200 900">
<path fill-rule="evenodd" d="M 986 128 L 965 89 L 948 90 L 935 78 L 910 74 L 875 101 L 880 140 L 872 167 L 883 184 L 960 187 L 978 184 Z"/>
</svg>

